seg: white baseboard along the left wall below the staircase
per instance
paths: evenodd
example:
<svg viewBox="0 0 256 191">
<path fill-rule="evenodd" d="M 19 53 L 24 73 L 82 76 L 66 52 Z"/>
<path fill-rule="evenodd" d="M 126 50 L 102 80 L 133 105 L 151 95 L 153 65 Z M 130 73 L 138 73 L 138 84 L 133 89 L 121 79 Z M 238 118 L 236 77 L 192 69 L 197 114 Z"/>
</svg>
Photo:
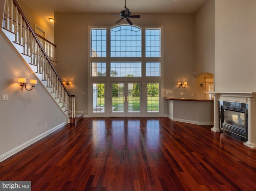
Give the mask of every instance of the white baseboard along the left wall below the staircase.
<svg viewBox="0 0 256 191">
<path fill-rule="evenodd" d="M 58 130 L 59 128 L 63 127 L 63 126 L 66 125 L 66 124 L 68 124 L 68 121 L 66 121 L 66 122 L 64 122 L 64 123 L 62 123 L 62 124 L 60 124 L 60 125 L 58 125 L 58 126 L 52 128 L 52 129 L 48 130 L 48 131 L 46 131 L 46 132 L 44 132 L 44 133 L 42 133 L 42 134 L 36 136 L 35 138 L 32 138 L 31 140 L 29 140 L 29 141 L 27 141 L 27 142 L 21 144 L 20 146 L 18 146 L 18 147 L 16 147 L 16 148 L 14 148 L 14 149 L 12 149 L 12 150 L 6 152 L 5 154 L 2 154 L 2 155 L 0 156 L 0 162 L 3 161 L 3 160 L 5 160 L 5 159 L 7 159 L 7 158 L 9 158 L 9 157 L 12 156 L 12 155 L 18 153 L 18 152 L 21 151 L 22 149 L 24 149 L 24 148 L 26 148 L 26 147 L 32 145 L 33 143 L 35 143 L 35 142 L 37 142 L 38 140 L 44 138 L 45 136 L 51 134 L 52 132 Z"/>
</svg>

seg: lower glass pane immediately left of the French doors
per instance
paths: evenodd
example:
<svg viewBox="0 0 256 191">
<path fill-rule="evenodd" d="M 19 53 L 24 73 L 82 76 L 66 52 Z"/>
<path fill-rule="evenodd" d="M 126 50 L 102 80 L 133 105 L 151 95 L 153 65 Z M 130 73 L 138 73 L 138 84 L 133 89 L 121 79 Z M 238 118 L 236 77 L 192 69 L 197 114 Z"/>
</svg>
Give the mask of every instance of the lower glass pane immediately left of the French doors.
<svg viewBox="0 0 256 191">
<path fill-rule="evenodd" d="M 94 83 L 92 89 L 92 112 L 105 112 L 105 84 Z"/>
</svg>

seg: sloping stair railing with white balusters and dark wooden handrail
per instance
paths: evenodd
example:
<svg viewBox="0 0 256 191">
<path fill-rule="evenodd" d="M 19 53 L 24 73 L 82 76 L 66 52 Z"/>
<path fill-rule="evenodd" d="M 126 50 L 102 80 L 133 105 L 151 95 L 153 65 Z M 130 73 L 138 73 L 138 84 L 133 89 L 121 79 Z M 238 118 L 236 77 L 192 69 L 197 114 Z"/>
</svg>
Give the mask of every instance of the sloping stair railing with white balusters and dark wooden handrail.
<svg viewBox="0 0 256 191">
<path fill-rule="evenodd" d="M 52 93 L 56 93 L 56 97 L 60 99 L 61 107 L 68 111 L 71 118 L 75 118 L 75 96 L 70 95 L 62 84 L 44 47 L 16 0 L 6 0 L 2 26 L 6 30 L 15 33 L 15 42 L 24 46 L 23 53 L 31 57 L 31 64 L 37 66 L 36 72 L 42 73 L 42 80 L 47 81 L 47 87 L 52 88 Z M 55 59 L 55 51 L 50 55 L 54 55 Z"/>
</svg>

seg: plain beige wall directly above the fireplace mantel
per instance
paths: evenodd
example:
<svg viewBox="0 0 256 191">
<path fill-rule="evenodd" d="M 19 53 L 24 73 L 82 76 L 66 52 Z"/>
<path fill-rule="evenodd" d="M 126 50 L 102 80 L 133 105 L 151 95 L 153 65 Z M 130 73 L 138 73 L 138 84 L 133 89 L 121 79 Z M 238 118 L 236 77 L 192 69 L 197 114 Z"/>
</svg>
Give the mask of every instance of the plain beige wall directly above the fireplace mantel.
<svg viewBox="0 0 256 191">
<path fill-rule="evenodd" d="M 215 0 L 215 91 L 256 91 L 255 10 L 255 0 Z"/>
</svg>

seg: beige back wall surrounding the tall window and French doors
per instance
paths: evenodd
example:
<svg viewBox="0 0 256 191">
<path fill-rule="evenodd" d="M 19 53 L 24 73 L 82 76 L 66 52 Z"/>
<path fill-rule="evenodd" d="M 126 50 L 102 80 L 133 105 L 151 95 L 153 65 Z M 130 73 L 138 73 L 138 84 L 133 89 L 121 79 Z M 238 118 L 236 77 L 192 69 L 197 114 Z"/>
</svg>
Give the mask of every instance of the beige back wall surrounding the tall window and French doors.
<svg viewBox="0 0 256 191">
<path fill-rule="evenodd" d="M 164 96 L 196 98 L 194 14 L 140 16 L 131 19 L 132 22 L 138 26 L 164 27 Z M 54 18 L 58 73 L 62 79 L 74 82 L 69 92 L 76 95 L 77 111 L 88 111 L 88 26 L 112 26 L 119 18 L 111 14 L 89 13 L 55 13 Z M 179 89 L 178 81 L 188 81 L 188 86 Z"/>
</svg>

